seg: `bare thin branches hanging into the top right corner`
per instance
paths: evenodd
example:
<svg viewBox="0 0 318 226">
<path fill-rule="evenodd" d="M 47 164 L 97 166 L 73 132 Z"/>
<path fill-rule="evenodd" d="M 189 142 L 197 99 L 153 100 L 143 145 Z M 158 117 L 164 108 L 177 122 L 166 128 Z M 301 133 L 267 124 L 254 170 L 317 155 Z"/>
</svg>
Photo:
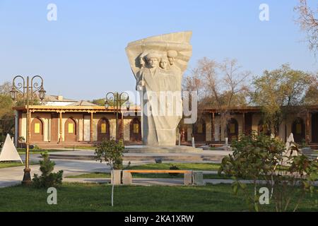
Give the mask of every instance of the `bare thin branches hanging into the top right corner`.
<svg viewBox="0 0 318 226">
<path fill-rule="evenodd" d="M 316 11 L 313 11 L 307 4 L 307 0 L 299 0 L 298 6 L 295 6 L 295 11 L 298 12 L 299 17 L 296 23 L 300 25 L 302 30 L 307 32 L 307 42 L 309 43 L 310 50 L 316 56 L 318 50 L 318 19 Z"/>
</svg>

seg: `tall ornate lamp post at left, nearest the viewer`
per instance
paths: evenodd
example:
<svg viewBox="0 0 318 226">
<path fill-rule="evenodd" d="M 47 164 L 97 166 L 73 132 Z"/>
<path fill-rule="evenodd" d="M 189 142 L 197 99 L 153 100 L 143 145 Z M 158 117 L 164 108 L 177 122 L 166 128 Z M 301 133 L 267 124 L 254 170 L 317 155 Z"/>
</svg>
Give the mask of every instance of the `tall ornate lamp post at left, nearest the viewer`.
<svg viewBox="0 0 318 226">
<path fill-rule="evenodd" d="M 16 80 L 18 83 L 16 83 Z M 40 81 L 40 83 L 38 82 Z M 12 89 L 10 91 L 10 95 L 13 101 L 17 99 L 17 97 L 23 98 L 23 105 L 26 104 L 27 109 L 27 124 L 26 124 L 26 150 L 25 150 L 25 169 L 23 175 L 22 184 L 30 184 L 31 175 L 30 175 L 30 153 L 29 153 L 29 145 L 30 145 L 30 103 L 33 105 L 33 99 L 36 97 L 36 93 L 39 94 L 40 100 L 45 99 L 45 89 L 43 88 L 43 78 L 41 76 L 33 76 L 32 78 L 23 78 L 22 76 L 16 76 L 13 78 Z"/>
</svg>

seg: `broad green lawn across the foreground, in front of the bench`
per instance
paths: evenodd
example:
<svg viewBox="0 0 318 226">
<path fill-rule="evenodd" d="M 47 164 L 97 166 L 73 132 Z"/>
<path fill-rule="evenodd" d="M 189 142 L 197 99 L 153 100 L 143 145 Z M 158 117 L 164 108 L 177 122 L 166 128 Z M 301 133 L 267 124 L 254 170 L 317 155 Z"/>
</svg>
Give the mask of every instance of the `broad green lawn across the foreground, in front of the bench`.
<svg viewBox="0 0 318 226">
<path fill-rule="evenodd" d="M 47 190 L 13 186 L 0 189 L 0 211 L 247 211 L 230 185 L 116 186 L 110 206 L 109 184 L 67 184 L 57 190 L 57 205 L 47 204 Z M 251 192 L 252 189 L 251 189 Z M 306 196 L 300 211 L 318 211 L 317 194 Z M 273 210 L 273 206 L 262 206 Z"/>
</svg>

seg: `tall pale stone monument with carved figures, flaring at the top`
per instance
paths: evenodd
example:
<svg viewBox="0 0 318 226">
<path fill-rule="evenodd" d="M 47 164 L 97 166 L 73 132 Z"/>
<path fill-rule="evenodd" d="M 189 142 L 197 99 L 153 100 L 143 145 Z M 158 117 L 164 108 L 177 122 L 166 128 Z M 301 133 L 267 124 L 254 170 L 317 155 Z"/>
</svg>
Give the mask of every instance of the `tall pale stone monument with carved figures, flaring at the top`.
<svg viewBox="0 0 318 226">
<path fill-rule="evenodd" d="M 141 94 L 144 145 L 175 147 L 182 119 L 182 75 L 192 56 L 192 32 L 175 32 L 131 42 L 126 47 L 136 90 Z"/>
</svg>

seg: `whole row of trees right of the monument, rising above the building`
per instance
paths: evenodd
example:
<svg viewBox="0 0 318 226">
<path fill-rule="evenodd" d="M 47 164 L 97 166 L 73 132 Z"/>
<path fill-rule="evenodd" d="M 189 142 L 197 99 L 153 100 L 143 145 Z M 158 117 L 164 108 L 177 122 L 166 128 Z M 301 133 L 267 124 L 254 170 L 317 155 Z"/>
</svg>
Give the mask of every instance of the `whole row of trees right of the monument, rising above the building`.
<svg viewBox="0 0 318 226">
<path fill-rule="evenodd" d="M 277 136 L 287 114 L 305 114 L 308 106 L 318 105 L 318 73 L 295 70 L 289 64 L 251 76 L 235 59 L 217 62 L 204 57 L 185 76 L 183 89 L 199 93 L 199 116 L 202 109 L 218 109 L 225 134 L 233 107 L 260 107 L 264 125 Z"/>
</svg>

